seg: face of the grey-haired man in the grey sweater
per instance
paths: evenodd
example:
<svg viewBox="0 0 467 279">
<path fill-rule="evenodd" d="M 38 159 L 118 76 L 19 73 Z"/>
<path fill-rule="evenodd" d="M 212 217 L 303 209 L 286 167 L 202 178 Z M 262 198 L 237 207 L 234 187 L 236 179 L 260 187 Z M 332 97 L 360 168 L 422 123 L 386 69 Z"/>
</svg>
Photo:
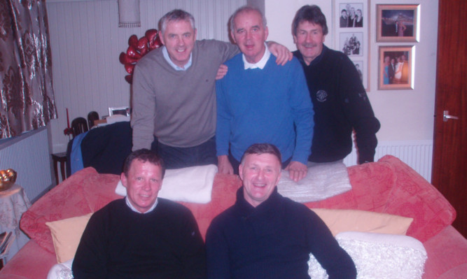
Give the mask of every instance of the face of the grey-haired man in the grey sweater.
<svg viewBox="0 0 467 279">
<path fill-rule="evenodd" d="M 169 21 L 160 41 L 167 48 L 172 62 L 183 67 L 190 60 L 196 41 L 196 29 L 187 20 Z"/>
</svg>

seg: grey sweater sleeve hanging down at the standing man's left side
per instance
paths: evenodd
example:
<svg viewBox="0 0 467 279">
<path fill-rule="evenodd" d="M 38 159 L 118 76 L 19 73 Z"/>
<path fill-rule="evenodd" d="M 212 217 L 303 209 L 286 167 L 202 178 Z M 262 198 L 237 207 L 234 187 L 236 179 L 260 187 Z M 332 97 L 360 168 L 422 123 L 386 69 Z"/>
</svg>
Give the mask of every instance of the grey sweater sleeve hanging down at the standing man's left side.
<svg viewBox="0 0 467 279">
<path fill-rule="evenodd" d="M 132 151 L 141 148 L 151 149 L 154 141 L 155 95 L 151 80 L 146 76 L 144 66 L 134 67 L 132 84 Z"/>
</svg>

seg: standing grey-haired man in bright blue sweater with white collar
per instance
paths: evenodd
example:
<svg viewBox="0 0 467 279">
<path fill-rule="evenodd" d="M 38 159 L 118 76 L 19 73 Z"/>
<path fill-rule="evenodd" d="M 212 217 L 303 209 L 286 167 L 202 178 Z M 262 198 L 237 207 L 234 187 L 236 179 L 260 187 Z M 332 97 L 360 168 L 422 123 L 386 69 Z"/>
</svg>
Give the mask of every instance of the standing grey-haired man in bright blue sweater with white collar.
<svg viewBox="0 0 467 279">
<path fill-rule="evenodd" d="M 307 173 L 313 134 L 313 108 L 300 63 L 295 58 L 284 66 L 274 63 L 265 45 L 266 21 L 257 8 L 239 8 L 230 28 L 242 53 L 225 63 L 228 73 L 216 83 L 219 172 L 236 173 L 246 148 L 264 142 L 277 145 L 283 168 L 298 181 Z"/>
</svg>

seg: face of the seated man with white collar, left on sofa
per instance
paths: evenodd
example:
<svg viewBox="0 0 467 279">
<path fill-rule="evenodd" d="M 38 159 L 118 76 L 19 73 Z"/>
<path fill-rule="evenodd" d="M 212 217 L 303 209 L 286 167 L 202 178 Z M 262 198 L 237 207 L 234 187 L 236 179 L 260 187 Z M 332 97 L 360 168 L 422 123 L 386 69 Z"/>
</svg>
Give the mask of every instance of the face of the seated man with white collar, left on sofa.
<svg viewBox="0 0 467 279">
<path fill-rule="evenodd" d="M 162 186 L 162 170 L 151 162 L 134 159 L 130 165 L 128 176 L 120 176 L 123 186 L 127 188 L 130 203 L 139 212 L 145 213 L 153 206 Z"/>
</svg>

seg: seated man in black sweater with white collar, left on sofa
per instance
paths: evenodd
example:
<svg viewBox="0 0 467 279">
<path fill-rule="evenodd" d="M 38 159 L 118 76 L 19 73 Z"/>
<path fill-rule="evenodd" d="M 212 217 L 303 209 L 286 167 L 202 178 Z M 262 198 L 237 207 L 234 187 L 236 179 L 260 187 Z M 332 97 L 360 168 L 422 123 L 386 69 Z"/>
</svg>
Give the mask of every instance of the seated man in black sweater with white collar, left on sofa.
<svg viewBox="0 0 467 279">
<path fill-rule="evenodd" d="M 158 198 L 165 167 L 150 150 L 127 157 L 125 199 L 90 218 L 73 262 L 79 278 L 205 278 L 204 243 L 190 210 Z"/>
</svg>

